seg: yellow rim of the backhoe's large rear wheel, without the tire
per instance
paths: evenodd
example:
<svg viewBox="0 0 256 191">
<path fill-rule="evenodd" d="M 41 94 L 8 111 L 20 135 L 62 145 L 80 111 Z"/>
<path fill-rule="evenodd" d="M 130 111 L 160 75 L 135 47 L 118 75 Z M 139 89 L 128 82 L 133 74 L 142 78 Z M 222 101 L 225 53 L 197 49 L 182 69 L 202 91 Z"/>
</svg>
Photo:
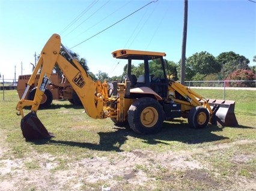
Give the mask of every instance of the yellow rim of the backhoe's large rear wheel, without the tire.
<svg viewBox="0 0 256 191">
<path fill-rule="evenodd" d="M 158 119 L 157 110 L 153 107 L 147 107 L 141 112 L 141 123 L 147 128 L 156 125 Z"/>
</svg>

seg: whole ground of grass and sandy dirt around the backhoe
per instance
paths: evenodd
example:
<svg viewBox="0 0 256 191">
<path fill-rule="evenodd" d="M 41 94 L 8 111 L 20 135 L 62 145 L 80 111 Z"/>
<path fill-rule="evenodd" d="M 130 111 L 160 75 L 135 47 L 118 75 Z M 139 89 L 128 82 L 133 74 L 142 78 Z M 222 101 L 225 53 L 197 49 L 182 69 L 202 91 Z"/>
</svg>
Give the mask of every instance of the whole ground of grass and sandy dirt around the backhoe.
<svg viewBox="0 0 256 191">
<path fill-rule="evenodd" d="M 223 99 L 223 90 L 195 91 Z M 35 142 L 22 136 L 16 90 L 4 96 L 0 190 L 256 190 L 256 91 L 226 90 L 236 101 L 236 128 L 190 129 L 175 119 L 143 136 L 54 101 L 37 114 L 56 137 Z"/>
</svg>

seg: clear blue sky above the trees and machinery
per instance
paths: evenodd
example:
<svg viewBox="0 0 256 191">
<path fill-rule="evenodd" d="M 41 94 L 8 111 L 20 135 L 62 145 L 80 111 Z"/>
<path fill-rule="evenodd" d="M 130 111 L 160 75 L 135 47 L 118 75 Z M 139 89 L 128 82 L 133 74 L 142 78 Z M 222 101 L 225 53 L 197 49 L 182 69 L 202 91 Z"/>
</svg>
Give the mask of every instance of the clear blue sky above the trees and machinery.
<svg viewBox="0 0 256 191">
<path fill-rule="evenodd" d="M 61 35 L 64 46 L 87 59 L 94 74 L 102 71 L 109 77 L 121 75 L 126 62 L 118 63 L 120 60 L 111 55 L 112 51 L 120 48 L 163 51 L 166 59 L 178 62 L 184 1 L 150 2 L 0 0 L 0 73 L 5 79 L 13 79 L 16 66 L 16 78 L 21 73 L 30 74 L 35 52 L 40 54 L 54 33 Z M 189 0 L 188 5 L 187 57 L 200 51 L 207 51 L 213 56 L 234 51 L 247 57 L 250 65 L 255 65 L 252 62 L 256 55 L 254 2 Z M 126 16 L 129 17 L 96 35 Z M 90 37 L 93 38 L 87 40 Z"/>
</svg>

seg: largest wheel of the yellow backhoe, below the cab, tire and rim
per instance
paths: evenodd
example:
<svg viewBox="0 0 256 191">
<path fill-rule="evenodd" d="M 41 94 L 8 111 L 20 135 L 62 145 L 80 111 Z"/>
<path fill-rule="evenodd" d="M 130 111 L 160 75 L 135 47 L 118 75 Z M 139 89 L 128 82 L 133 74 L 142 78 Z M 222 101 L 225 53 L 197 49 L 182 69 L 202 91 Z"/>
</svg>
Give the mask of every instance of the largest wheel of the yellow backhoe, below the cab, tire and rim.
<svg viewBox="0 0 256 191">
<path fill-rule="evenodd" d="M 136 133 L 155 134 L 162 129 L 165 113 L 156 99 L 140 98 L 130 106 L 127 119 Z"/>
</svg>

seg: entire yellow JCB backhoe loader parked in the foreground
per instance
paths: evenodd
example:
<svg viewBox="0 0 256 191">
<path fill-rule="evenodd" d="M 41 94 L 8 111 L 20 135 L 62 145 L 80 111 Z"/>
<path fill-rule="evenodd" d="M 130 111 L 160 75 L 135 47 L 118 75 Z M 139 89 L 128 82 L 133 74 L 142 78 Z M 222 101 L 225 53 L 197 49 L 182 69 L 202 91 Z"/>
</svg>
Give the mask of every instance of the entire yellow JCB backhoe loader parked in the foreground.
<svg viewBox="0 0 256 191">
<path fill-rule="evenodd" d="M 60 48 L 69 54 L 72 62 L 59 54 Z M 108 89 L 106 81 L 94 81 L 73 59 L 62 45 L 61 37 L 53 34 L 47 41 L 34 72 L 29 78 L 26 90 L 17 103 L 17 114 L 22 116 L 20 127 L 26 140 L 50 138 L 50 134 L 37 117 L 37 110 L 49 83 L 55 63 L 69 80 L 79 96 L 85 113 L 93 119 L 108 117 L 115 125 L 128 123 L 138 134 L 154 134 L 162 128 L 165 120 L 185 117 L 192 128 L 204 128 L 208 123 L 222 126 L 238 125 L 234 114 L 234 101 L 209 100 L 198 95 L 182 84 L 169 80 L 166 75 L 165 53 L 140 50 L 116 50 L 112 56 L 126 59 L 127 76 L 124 81 L 113 82 L 113 89 Z M 132 74 L 133 62 L 144 62 L 144 75 Z M 161 68 L 150 71 L 149 63 L 156 62 Z M 33 100 L 27 100 L 29 86 L 34 83 L 40 69 L 38 87 Z M 28 114 L 23 108 L 31 106 Z"/>
</svg>

